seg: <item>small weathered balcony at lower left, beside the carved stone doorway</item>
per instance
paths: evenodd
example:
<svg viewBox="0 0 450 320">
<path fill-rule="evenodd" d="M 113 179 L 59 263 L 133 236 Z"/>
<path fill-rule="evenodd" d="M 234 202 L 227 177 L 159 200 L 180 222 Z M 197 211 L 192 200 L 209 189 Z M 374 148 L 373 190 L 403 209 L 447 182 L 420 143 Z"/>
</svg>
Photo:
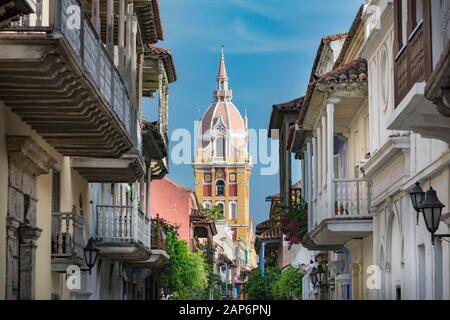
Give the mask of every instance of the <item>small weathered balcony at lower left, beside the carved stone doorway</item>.
<svg viewBox="0 0 450 320">
<path fill-rule="evenodd" d="M 71 265 L 84 262 L 84 216 L 72 212 L 52 213 L 52 271 L 65 273 Z"/>
</svg>

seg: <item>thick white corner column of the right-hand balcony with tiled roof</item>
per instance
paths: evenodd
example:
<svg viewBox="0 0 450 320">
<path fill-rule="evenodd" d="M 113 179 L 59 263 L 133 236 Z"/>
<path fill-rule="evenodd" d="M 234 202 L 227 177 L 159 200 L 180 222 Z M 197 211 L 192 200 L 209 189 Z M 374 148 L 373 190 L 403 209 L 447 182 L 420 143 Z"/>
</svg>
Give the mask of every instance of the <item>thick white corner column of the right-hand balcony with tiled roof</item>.
<svg viewBox="0 0 450 320">
<path fill-rule="evenodd" d="M 334 103 L 327 104 L 327 202 L 328 214 L 334 212 Z"/>
</svg>

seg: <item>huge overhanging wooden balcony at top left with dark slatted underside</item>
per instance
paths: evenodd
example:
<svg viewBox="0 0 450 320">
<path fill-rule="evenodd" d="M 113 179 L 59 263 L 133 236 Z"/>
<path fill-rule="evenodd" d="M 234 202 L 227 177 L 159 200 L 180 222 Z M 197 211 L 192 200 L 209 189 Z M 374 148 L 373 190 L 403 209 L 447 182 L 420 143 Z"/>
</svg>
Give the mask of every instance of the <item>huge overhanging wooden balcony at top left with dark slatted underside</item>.
<svg viewBox="0 0 450 320">
<path fill-rule="evenodd" d="M 136 148 L 136 108 L 82 3 L 42 4 L 0 29 L 0 99 L 63 155 Z"/>
</svg>

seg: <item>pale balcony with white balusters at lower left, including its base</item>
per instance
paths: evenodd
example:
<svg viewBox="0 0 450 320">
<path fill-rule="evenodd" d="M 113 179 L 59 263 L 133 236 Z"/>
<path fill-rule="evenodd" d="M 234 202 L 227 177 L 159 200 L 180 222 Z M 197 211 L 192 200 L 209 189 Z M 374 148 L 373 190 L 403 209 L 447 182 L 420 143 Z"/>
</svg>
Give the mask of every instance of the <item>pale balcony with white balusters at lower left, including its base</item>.
<svg viewBox="0 0 450 320">
<path fill-rule="evenodd" d="M 101 255 L 122 261 L 150 257 L 150 221 L 137 208 L 97 206 L 96 230 Z"/>
</svg>

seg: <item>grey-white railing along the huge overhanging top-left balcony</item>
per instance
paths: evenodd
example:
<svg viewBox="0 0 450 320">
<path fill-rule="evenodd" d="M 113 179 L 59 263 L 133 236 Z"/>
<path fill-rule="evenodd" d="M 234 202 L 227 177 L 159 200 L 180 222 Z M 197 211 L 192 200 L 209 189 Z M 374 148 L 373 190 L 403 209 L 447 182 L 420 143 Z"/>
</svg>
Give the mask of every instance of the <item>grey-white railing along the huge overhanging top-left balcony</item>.
<svg viewBox="0 0 450 320">
<path fill-rule="evenodd" d="M 81 76 L 87 76 L 133 145 L 137 145 L 137 108 L 132 105 L 126 79 L 116 68 L 114 57 L 106 50 L 82 1 L 38 1 L 35 14 L 21 17 L 0 32 L 47 33 L 62 39 L 78 61 Z"/>
</svg>

